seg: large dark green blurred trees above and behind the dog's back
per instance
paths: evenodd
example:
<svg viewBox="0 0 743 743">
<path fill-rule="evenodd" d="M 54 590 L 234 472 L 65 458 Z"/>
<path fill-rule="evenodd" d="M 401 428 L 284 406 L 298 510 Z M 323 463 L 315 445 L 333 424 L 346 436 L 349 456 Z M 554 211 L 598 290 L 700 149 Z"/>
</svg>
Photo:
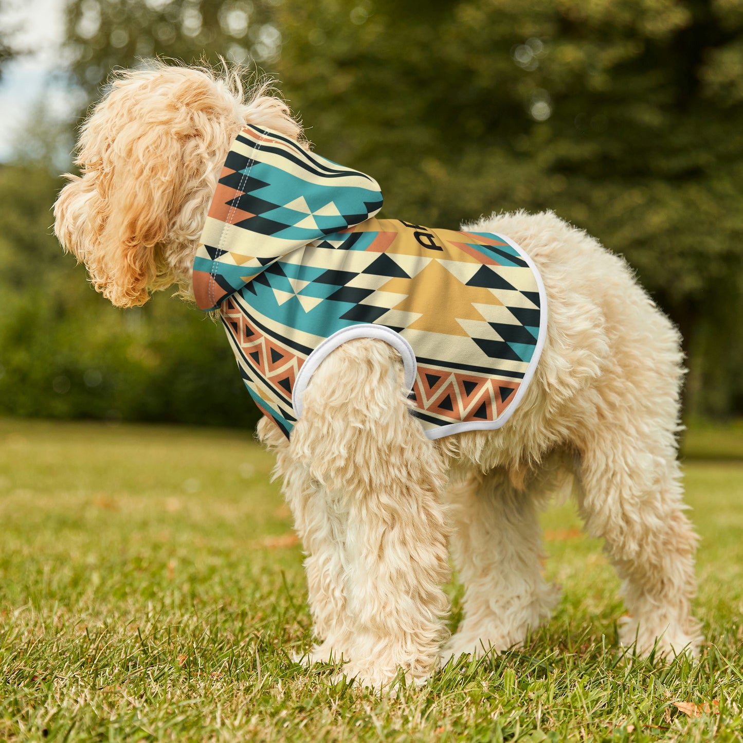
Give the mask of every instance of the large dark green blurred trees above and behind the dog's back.
<svg viewBox="0 0 743 743">
<path fill-rule="evenodd" d="M 692 407 L 729 407 L 708 392 L 742 350 L 729 311 L 743 276 L 740 0 L 288 0 L 276 13 L 285 94 L 319 152 L 380 181 L 389 215 L 455 227 L 557 211 L 623 253 L 681 326 Z M 738 399 L 740 376 L 726 384 Z"/>
</svg>

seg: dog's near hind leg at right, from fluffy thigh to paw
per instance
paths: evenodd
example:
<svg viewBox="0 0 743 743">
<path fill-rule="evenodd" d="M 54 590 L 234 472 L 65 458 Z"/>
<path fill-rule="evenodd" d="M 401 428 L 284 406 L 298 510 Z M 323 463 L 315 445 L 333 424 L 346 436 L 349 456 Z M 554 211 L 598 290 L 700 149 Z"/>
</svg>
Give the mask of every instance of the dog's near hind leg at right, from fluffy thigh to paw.
<svg viewBox="0 0 743 743">
<path fill-rule="evenodd" d="M 563 411 L 580 455 L 579 507 L 623 580 L 630 618 L 623 645 L 648 655 L 695 654 L 691 614 L 697 537 L 682 501 L 676 459 L 681 352 L 678 334 L 636 287 L 607 292 L 602 374 Z"/>
</svg>

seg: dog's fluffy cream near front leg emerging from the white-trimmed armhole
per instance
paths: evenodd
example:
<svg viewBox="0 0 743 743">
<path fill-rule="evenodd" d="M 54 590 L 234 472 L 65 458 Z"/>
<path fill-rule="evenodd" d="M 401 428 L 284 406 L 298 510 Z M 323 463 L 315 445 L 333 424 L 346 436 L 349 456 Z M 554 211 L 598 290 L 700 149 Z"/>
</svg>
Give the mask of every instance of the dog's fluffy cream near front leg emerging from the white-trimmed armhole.
<svg viewBox="0 0 743 743">
<path fill-rule="evenodd" d="M 425 681 L 447 636 L 444 460 L 409 413 L 401 371 L 383 341 L 348 341 L 314 374 L 291 437 L 328 508 L 308 532 L 330 534 L 343 565 L 331 579 L 344 609 L 343 673 L 377 689 L 400 669 Z"/>
</svg>

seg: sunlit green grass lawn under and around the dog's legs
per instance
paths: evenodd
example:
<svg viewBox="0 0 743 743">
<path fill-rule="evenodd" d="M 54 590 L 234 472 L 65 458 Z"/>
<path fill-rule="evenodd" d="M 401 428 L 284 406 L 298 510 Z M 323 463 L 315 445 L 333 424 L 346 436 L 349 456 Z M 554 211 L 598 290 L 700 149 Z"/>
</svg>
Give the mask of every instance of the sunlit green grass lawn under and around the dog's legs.
<svg viewBox="0 0 743 743">
<path fill-rule="evenodd" d="M 742 741 L 743 461 L 692 459 L 715 435 L 685 449 L 701 661 L 623 657 L 617 578 L 565 505 L 551 622 L 392 699 L 291 660 L 302 554 L 250 435 L 0 420 L 0 740 Z"/>
</svg>

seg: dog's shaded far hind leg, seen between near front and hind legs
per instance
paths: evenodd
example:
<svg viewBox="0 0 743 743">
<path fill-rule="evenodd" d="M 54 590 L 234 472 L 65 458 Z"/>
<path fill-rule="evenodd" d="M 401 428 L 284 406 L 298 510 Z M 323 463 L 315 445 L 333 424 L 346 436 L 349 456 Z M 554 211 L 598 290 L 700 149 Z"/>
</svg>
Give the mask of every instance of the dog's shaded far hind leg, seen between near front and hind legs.
<svg viewBox="0 0 743 743">
<path fill-rule="evenodd" d="M 547 619 L 559 591 L 545 583 L 535 484 L 516 488 L 504 469 L 473 473 L 449 491 L 452 554 L 464 583 L 464 619 L 442 661 L 519 646 Z"/>
</svg>

